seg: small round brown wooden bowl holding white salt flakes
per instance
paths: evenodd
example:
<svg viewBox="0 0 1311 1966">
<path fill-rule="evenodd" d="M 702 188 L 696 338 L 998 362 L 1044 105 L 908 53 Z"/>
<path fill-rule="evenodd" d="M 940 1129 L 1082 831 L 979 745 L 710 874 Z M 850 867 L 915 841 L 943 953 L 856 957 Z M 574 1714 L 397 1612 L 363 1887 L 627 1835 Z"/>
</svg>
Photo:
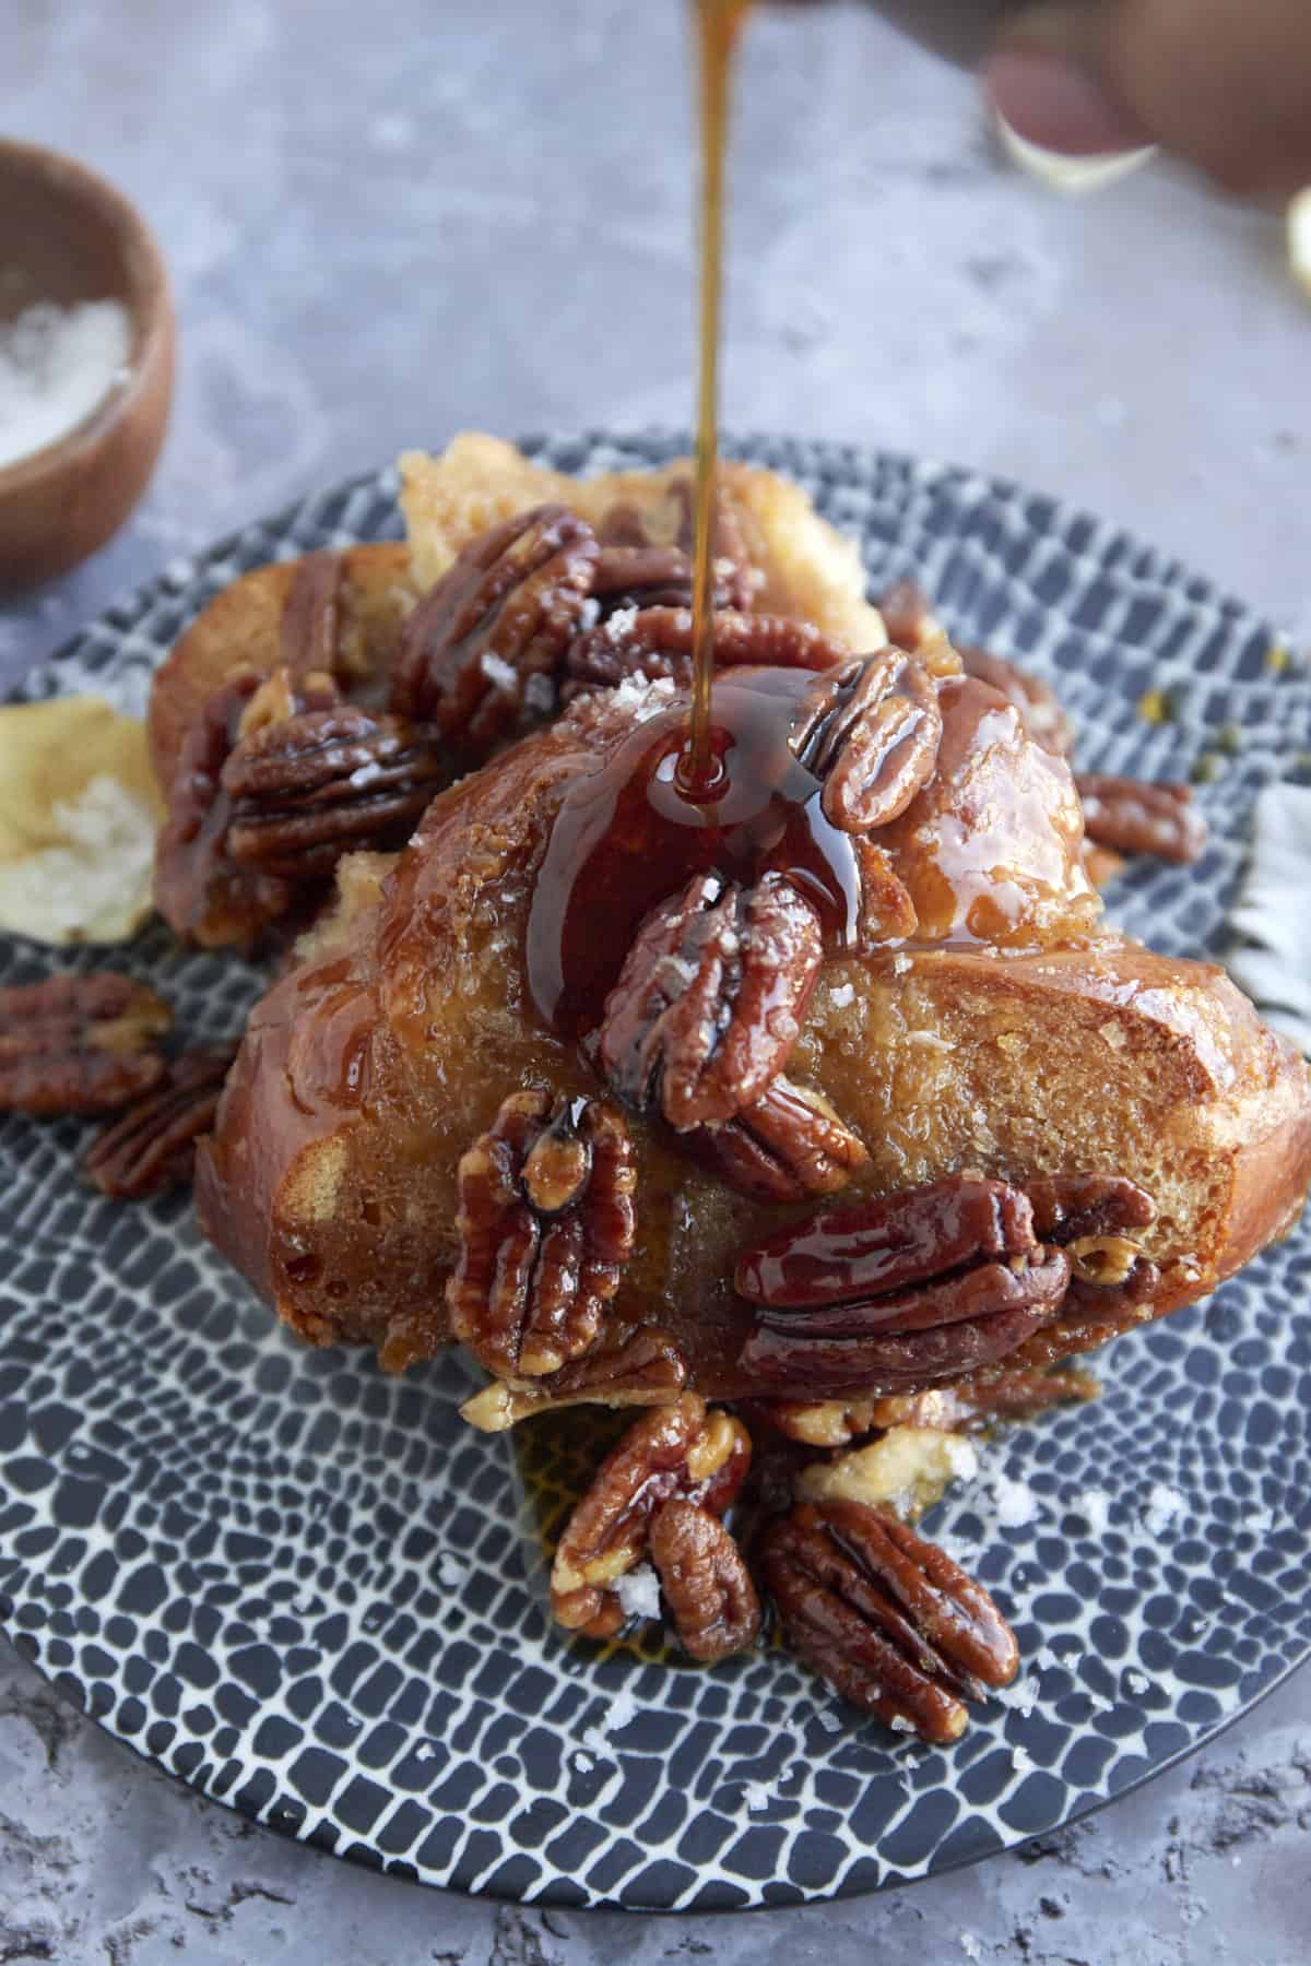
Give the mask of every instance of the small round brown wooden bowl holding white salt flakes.
<svg viewBox="0 0 1311 1966">
<path fill-rule="evenodd" d="M 159 248 L 102 177 L 0 142 L 0 320 L 37 301 L 122 301 L 126 379 L 67 436 L 0 466 L 0 588 L 63 574 L 124 523 L 159 456 L 173 399 L 173 301 Z"/>
</svg>

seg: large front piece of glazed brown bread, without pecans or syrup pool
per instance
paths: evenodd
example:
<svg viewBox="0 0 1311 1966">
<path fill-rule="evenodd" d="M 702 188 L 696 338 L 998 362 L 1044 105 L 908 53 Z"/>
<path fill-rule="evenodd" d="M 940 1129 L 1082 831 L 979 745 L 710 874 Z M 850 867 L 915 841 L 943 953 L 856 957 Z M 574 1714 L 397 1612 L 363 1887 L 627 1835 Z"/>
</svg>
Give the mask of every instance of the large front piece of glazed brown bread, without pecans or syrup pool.
<svg viewBox="0 0 1311 1966">
<path fill-rule="evenodd" d="M 440 794 L 401 855 L 344 863 L 334 912 L 252 1014 L 200 1152 L 214 1243 L 303 1337 L 371 1343 L 393 1364 L 425 1357 L 450 1339 L 462 1156 L 507 1097 L 539 1089 L 607 1095 L 631 1138 L 633 1248 L 594 1353 L 655 1329 L 708 1398 L 835 1390 L 804 1366 L 790 1386 L 753 1368 L 743 1248 L 816 1205 L 963 1170 L 1020 1189 L 1085 1174 L 1144 1189 L 1156 1213 L 1136 1235 L 1154 1284 L 1128 1321 L 1213 1290 L 1301 1205 L 1307 1066 L 1215 965 L 1103 924 L 1063 759 L 987 684 L 938 692 L 938 773 L 875 836 L 918 928 L 827 950 L 786 1060 L 788 1083 L 859 1142 L 839 1191 L 788 1205 L 739 1191 L 698 1152 L 706 1128 L 678 1132 L 641 1101 L 625 1111 L 598 1083 L 596 1038 L 548 1028 L 533 997 L 533 908 L 560 812 L 635 731 L 680 725 L 686 698 L 664 682 L 584 698 Z M 1087 1301 L 1065 1307 L 1006 1362 L 1083 1349 L 1109 1323 Z M 560 1396 L 578 1378 L 566 1370 Z M 550 1372 L 497 1376 L 523 1410 L 552 1394 Z M 945 1378 L 961 1378 L 953 1355 L 920 1382 Z M 859 1390 L 914 1384 L 873 1372 Z"/>
</svg>

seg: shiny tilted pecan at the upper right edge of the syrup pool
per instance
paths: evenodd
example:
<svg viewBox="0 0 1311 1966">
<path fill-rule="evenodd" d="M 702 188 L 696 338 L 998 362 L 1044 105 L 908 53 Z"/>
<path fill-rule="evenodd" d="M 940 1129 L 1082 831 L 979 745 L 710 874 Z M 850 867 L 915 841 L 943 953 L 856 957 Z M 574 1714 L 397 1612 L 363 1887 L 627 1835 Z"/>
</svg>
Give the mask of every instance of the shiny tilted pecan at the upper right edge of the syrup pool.
<svg viewBox="0 0 1311 1966">
<path fill-rule="evenodd" d="M 847 834 L 898 818 L 932 779 L 940 743 L 938 688 L 900 649 L 818 680 L 792 729 L 798 759 L 824 781 L 826 818 Z"/>
</svg>

